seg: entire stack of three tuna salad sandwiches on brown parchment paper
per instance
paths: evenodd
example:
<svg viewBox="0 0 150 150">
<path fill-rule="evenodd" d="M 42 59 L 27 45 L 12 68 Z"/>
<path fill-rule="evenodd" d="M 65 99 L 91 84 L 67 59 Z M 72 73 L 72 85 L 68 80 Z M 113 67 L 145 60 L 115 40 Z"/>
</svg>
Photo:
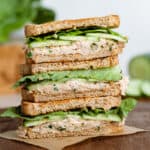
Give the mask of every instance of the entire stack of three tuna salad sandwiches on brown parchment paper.
<svg viewBox="0 0 150 150">
<path fill-rule="evenodd" d="M 2 117 L 23 118 L 19 136 L 108 135 L 123 130 L 135 106 L 121 100 L 126 83 L 118 54 L 127 38 L 111 28 L 116 15 L 27 25 L 21 107 Z"/>
</svg>

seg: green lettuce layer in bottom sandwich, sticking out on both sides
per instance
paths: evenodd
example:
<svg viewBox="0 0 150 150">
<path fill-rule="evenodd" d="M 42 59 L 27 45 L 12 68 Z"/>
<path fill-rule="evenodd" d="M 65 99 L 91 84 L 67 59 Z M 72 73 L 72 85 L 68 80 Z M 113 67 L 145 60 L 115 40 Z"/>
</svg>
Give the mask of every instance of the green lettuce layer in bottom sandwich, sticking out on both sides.
<svg viewBox="0 0 150 150">
<path fill-rule="evenodd" d="M 101 108 L 96 109 L 76 109 L 69 111 L 57 111 L 44 115 L 38 115 L 35 117 L 24 116 L 21 113 L 20 107 L 8 108 L 3 112 L 0 117 L 11 117 L 24 119 L 24 126 L 34 126 L 44 123 L 50 120 L 65 119 L 69 116 L 76 116 L 81 119 L 91 120 L 108 120 L 108 121 L 122 121 L 127 117 L 128 113 L 136 106 L 136 100 L 133 98 L 126 98 L 122 100 L 120 107 L 112 108 L 110 110 L 103 110 Z"/>
</svg>

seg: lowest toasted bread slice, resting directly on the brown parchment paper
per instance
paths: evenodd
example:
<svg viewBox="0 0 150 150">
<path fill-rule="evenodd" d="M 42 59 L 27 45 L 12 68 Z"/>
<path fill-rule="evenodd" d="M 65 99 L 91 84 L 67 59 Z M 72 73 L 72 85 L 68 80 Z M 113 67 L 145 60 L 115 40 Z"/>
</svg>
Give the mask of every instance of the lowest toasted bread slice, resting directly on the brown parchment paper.
<svg viewBox="0 0 150 150">
<path fill-rule="evenodd" d="M 84 128 L 84 127 L 83 127 Z M 110 122 L 110 121 L 100 121 L 100 126 L 93 127 L 89 129 L 80 129 L 74 131 L 57 131 L 57 132 L 43 132 L 44 128 L 41 126 L 39 130 L 35 131 L 35 127 L 20 127 L 18 129 L 18 136 L 21 138 L 28 139 L 39 139 L 39 138 L 51 138 L 51 137 L 67 137 L 67 136 L 107 136 L 114 133 L 123 132 L 123 123 Z"/>
</svg>

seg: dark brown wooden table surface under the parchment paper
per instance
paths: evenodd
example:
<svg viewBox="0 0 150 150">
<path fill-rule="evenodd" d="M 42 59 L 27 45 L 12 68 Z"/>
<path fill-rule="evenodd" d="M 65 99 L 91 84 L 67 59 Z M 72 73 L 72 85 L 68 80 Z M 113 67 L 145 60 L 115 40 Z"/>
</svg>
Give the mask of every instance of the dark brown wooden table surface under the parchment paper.
<svg viewBox="0 0 150 150">
<path fill-rule="evenodd" d="M 2 111 L 2 110 L 0 110 Z M 16 129 L 18 119 L 0 119 L 0 132 Z M 142 100 L 130 113 L 127 125 L 150 130 L 150 100 Z M 98 137 L 86 140 L 65 150 L 150 150 L 150 132 L 118 137 Z M 0 138 L 0 150 L 43 150 L 29 144 Z"/>
</svg>

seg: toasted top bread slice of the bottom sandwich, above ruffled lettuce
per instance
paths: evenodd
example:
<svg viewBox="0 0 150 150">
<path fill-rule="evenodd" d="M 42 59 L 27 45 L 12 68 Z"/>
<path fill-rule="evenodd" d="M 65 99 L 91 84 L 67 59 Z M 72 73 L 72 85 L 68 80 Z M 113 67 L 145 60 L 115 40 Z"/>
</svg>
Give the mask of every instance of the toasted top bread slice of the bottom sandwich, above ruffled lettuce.
<svg viewBox="0 0 150 150">
<path fill-rule="evenodd" d="M 46 114 L 53 111 L 67 111 L 76 108 L 103 108 L 109 110 L 112 107 L 120 106 L 121 96 L 113 97 L 94 97 L 94 98 L 76 98 L 68 100 L 49 101 L 45 103 L 34 103 L 22 101 L 22 113 L 28 116 Z"/>
</svg>

